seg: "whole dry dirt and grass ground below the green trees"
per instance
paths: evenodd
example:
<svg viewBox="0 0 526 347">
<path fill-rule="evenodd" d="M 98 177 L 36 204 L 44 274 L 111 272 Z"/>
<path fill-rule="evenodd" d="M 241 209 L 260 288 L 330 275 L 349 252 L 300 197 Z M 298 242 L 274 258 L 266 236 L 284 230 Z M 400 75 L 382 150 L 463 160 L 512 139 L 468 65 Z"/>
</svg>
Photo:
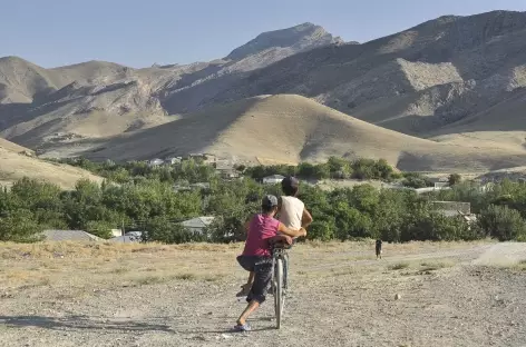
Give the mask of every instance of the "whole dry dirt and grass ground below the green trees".
<svg viewBox="0 0 526 347">
<path fill-rule="evenodd" d="M 0 245 L 0 346 L 526 345 L 525 244 L 299 245 L 245 334 L 241 247 Z"/>
</svg>

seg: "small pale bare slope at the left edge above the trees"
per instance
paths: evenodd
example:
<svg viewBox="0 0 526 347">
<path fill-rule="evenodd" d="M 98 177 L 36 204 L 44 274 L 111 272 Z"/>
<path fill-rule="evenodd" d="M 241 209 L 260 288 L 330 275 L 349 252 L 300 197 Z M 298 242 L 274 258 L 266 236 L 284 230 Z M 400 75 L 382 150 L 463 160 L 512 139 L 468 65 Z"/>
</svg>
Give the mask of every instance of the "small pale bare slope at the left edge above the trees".
<svg viewBox="0 0 526 347">
<path fill-rule="evenodd" d="M 0 185 L 9 186 L 23 177 L 52 182 L 64 189 L 75 188 L 79 179 L 103 181 L 86 170 L 40 160 L 30 149 L 0 139 Z"/>
</svg>

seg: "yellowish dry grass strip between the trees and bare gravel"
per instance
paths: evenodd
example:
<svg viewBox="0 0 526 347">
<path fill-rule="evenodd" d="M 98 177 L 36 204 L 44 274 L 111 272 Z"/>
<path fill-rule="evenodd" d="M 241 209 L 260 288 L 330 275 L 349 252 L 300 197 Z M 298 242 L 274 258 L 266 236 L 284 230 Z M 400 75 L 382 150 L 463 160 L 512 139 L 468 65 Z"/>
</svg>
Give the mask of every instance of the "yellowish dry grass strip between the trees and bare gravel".
<svg viewBox="0 0 526 347">
<path fill-rule="evenodd" d="M 450 267 L 454 262 L 442 258 L 423 261 L 413 257 L 469 248 L 477 244 L 483 242 L 387 244 L 384 259 L 376 261 L 373 240 L 308 241 L 290 251 L 293 259 L 291 270 L 294 276 L 313 278 L 357 274 L 377 276 L 374 274 L 386 266 L 391 271 L 408 268 L 436 270 Z M 173 280 L 232 280 L 234 276 L 244 276 L 235 261 L 242 247 L 242 244 L 0 244 L 0 290 L 50 286 L 85 293 L 88 289 Z M 78 276 L 79 272 L 82 276 Z"/>
</svg>

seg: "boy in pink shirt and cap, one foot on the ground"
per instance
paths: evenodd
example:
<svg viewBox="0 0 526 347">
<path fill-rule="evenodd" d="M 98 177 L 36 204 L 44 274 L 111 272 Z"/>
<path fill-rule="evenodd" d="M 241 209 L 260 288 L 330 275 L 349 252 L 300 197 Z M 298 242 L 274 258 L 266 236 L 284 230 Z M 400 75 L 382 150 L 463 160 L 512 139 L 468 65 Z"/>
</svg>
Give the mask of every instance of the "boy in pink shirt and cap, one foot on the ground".
<svg viewBox="0 0 526 347">
<path fill-rule="evenodd" d="M 267 195 L 261 205 L 262 212 L 255 215 L 247 224 L 243 254 L 237 257 L 237 262 L 247 271 L 251 271 L 251 287 L 246 301 L 249 305 L 237 319 L 234 327 L 240 331 L 249 331 L 246 324 L 249 316 L 265 301 L 266 290 L 272 278 L 271 246 L 275 242 L 292 244 L 291 237 L 306 236 L 304 228 L 290 229 L 274 218 L 277 212 L 277 198 Z"/>
</svg>

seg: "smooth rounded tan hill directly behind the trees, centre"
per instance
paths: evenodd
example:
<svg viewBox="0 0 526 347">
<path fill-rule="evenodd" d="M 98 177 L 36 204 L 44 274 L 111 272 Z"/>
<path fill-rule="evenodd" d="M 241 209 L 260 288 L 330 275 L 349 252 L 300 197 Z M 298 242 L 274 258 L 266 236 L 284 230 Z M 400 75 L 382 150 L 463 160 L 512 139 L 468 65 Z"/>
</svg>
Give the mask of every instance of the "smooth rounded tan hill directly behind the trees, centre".
<svg viewBox="0 0 526 347">
<path fill-rule="evenodd" d="M 152 159 L 210 152 L 238 160 L 320 161 L 329 156 L 386 158 L 405 170 L 517 166 L 526 152 L 470 149 L 383 129 L 300 96 L 263 96 L 119 136 L 85 153 L 92 159 Z"/>
</svg>

